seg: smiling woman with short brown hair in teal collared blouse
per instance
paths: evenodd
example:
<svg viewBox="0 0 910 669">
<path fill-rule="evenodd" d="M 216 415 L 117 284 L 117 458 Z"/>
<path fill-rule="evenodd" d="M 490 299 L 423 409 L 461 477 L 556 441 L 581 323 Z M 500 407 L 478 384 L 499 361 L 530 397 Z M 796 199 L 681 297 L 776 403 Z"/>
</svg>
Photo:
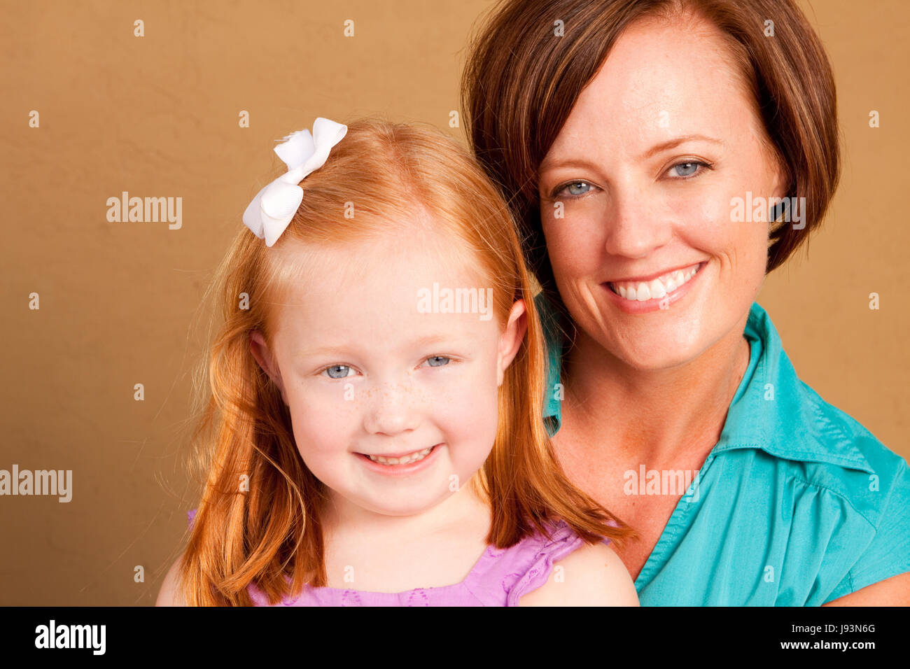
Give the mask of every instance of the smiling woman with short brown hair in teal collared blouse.
<svg viewBox="0 0 910 669">
<path fill-rule="evenodd" d="M 509 0 L 463 93 L 550 309 L 557 455 L 639 533 L 642 605 L 910 603 L 905 460 L 797 378 L 754 302 L 839 177 L 799 9 Z"/>
</svg>

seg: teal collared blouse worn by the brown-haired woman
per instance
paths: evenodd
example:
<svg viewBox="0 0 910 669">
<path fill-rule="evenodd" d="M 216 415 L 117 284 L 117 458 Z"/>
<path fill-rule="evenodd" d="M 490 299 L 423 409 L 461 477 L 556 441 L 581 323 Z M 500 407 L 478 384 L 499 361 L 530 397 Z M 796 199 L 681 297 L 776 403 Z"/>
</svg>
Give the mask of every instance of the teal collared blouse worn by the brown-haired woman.
<svg viewBox="0 0 910 669">
<path fill-rule="evenodd" d="M 554 310 L 542 293 L 535 303 L 547 333 L 553 434 L 561 344 Z M 642 606 L 815 606 L 910 572 L 905 459 L 799 380 L 757 302 L 744 334 L 749 367 L 720 441 L 690 475 L 635 580 Z M 666 492 L 658 474 L 643 478 Z M 642 480 L 630 485 L 649 491 Z"/>
</svg>

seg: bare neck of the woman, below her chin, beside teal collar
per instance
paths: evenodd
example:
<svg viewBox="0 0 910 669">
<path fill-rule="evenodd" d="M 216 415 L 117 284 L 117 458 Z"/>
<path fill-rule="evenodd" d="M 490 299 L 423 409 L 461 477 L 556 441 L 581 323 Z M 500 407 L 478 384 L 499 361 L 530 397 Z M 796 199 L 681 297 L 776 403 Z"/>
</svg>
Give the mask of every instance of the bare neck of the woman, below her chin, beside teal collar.
<svg viewBox="0 0 910 669">
<path fill-rule="evenodd" d="M 564 363 L 562 421 L 571 441 L 612 459 L 678 461 L 720 438 L 749 366 L 746 314 L 722 340 L 671 370 L 637 370 L 579 330 Z M 595 453 L 591 453 L 595 455 Z"/>
</svg>

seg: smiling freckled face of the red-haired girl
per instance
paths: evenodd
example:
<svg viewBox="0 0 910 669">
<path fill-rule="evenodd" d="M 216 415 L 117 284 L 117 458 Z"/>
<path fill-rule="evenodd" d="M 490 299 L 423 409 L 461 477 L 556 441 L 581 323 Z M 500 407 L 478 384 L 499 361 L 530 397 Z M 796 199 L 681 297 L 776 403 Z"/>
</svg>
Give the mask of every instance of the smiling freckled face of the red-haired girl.
<svg viewBox="0 0 910 669">
<path fill-rule="evenodd" d="M 459 261 L 460 246 L 415 225 L 381 240 L 280 249 L 307 258 L 306 270 L 276 306 L 272 350 L 258 333 L 251 347 L 288 404 L 303 461 L 336 504 L 419 513 L 490 454 L 524 305 L 501 331 L 491 286 Z M 445 289 L 472 289 L 474 311 L 451 312 Z"/>
</svg>

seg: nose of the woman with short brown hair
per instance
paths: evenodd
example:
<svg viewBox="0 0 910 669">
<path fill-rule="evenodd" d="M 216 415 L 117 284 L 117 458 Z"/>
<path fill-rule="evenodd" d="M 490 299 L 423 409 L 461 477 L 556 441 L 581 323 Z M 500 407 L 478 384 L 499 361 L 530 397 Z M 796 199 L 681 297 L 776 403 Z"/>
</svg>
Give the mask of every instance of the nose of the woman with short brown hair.
<svg viewBox="0 0 910 669">
<path fill-rule="evenodd" d="M 643 188 L 614 188 L 605 212 L 606 251 L 612 256 L 646 258 L 672 238 L 672 218 Z"/>
</svg>

